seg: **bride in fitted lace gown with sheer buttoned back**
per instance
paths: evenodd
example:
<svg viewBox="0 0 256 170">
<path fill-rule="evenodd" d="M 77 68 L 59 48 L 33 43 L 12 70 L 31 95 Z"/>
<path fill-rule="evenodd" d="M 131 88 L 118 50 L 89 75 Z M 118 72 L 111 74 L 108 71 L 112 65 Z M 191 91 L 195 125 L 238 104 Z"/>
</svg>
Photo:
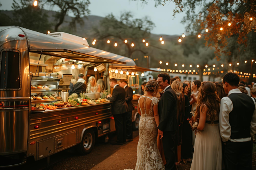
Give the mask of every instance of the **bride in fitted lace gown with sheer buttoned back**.
<svg viewBox="0 0 256 170">
<path fill-rule="evenodd" d="M 159 101 L 155 96 L 158 90 L 159 83 L 156 80 L 149 80 L 145 85 L 145 94 L 138 101 L 138 112 L 141 119 L 139 121 L 139 143 L 135 170 L 165 169 L 157 146 Z"/>
</svg>

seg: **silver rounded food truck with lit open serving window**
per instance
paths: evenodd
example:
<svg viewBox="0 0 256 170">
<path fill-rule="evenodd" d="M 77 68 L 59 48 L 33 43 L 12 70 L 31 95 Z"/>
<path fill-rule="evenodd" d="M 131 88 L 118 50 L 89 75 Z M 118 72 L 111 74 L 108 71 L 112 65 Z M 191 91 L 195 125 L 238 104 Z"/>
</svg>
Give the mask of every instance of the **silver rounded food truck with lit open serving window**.
<svg viewBox="0 0 256 170">
<path fill-rule="evenodd" d="M 30 156 L 49 158 L 72 146 L 87 154 L 96 137 L 114 132 L 111 102 L 104 96 L 93 101 L 66 95 L 72 74 L 94 70 L 108 77 L 99 72 L 108 73 L 109 63 L 126 64 L 85 38 L 0 27 L 0 167 L 22 165 Z"/>
</svg>

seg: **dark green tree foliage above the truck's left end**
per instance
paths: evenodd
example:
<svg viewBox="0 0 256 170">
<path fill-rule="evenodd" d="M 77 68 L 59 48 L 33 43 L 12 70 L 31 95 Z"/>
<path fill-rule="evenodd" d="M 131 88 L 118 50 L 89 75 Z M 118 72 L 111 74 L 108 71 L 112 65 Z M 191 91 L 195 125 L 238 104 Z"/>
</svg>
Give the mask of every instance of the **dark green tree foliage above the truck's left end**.
<svg viewBox="0 0 256 170">
<path fill-rule="evenodd" d="M 16 1 L 13 1 L 13 17 L 12 20 L 9 19 L 8 25 L 20 26 L 41 33 L 46 33 L 50 29 L 48 15 L 39 6 L 34 7 L 30 0 L 19 0 L 19 3 Z"/>
</svg>

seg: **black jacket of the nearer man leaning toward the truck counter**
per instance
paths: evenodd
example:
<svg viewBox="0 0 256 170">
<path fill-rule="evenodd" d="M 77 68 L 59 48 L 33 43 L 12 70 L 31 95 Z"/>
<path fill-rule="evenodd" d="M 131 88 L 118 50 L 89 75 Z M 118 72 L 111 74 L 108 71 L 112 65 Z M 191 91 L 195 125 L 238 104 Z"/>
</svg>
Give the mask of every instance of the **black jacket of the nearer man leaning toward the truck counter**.
<svg viewBox="0 0 256 170">
<path fill-rule="evenodd" d="M 109 97 L 108 100 L 113 102 L 112 104 L 112 114 L 118 115 L 122 113 L 126 113 L 128 110 L 128 106 L 125 102 L 125 90 L 117 85 L 112 93 L 112 97 Z"/>
</svg>

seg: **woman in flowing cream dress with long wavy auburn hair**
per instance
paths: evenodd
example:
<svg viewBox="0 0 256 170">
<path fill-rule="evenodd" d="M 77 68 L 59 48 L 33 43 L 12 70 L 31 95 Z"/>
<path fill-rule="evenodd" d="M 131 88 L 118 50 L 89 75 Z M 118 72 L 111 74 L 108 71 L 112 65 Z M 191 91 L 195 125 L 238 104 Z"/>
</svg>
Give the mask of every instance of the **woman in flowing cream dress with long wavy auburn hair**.
<svg viewBox="0 0 256 170">
<path fill-rule="evenodd" d="M 199 88 L 195 112 L 198 132 L 190 170 L 221 170 L 220 99 L 215 91 L 213 82 L 202 82 Z"/>
</svg>

